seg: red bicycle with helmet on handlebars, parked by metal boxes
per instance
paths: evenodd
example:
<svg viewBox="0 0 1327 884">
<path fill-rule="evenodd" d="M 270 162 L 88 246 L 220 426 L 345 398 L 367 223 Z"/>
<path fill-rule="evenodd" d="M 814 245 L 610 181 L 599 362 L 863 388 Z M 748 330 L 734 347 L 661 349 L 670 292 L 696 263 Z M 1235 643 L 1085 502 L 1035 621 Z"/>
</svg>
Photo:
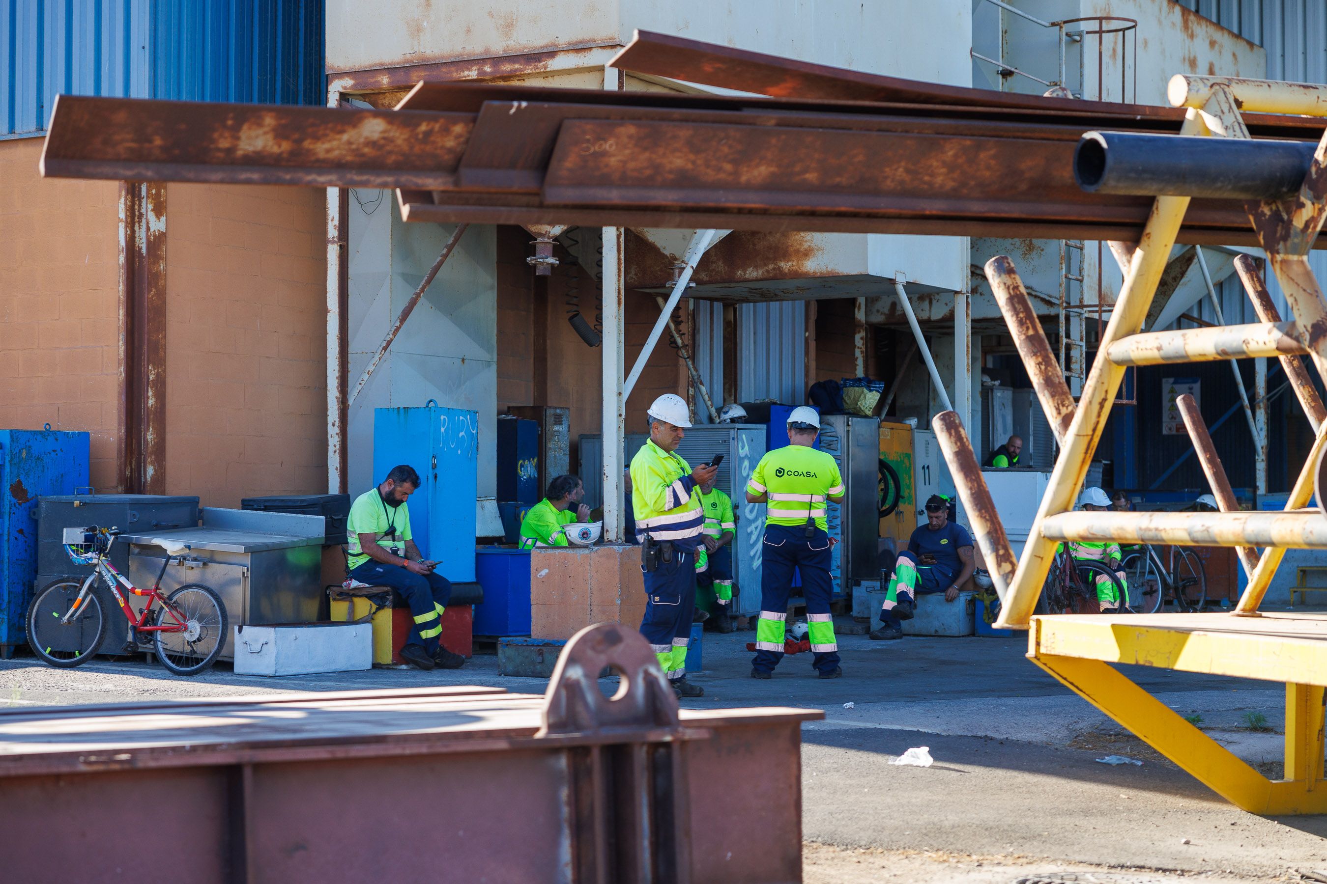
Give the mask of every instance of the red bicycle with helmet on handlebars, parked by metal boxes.
<svg viewBox="0 0 1327 884">
<path fill-rule="evenodd" d="M 78 565 L 93 570 L 82 580 L 65 578 L 42 587 L 28 606 L 28 644 L 42 661 L 70 668 L 88 661 L 101 645 L 106 631 L 101 602 L 93 591 L 97 578 L 110 588 L 125 619 L 129 620 L 129 643 L 125 652 L 138 648 L 142 636 L 151 636 L 157 659 L 170 672 L 191 676 L 216 661 L 226 645 L 226 606 L 210 587 L 186 583 L 170 595 L 162 592 L 162 577 L 171 559 L 183 559 L 187 543 L 162 542 L 166 558 L 150 590 L 135 587 L 107 561 L 111 545 L 119 537 L 114 527 L 66 527 L 65 551 Z M 134 616 L 119 587 L 146 596 L 142 614 Z M 161 607 L 157 607 L 161 603 Z"/>
</svg>

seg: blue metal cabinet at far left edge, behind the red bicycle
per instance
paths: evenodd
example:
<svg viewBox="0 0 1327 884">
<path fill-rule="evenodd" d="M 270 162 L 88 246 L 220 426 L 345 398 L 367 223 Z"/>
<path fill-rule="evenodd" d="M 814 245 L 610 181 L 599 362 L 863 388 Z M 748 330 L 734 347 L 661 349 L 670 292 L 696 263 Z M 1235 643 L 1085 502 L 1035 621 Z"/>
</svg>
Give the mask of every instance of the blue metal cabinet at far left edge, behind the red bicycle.
<svg viewBox="0 0 1327 884">
<path fill-rule="evenodd" d="M 0 655 L 25 641 L 23 618 L 37 578 L 37 497 L 88 485 L 89 436 L 0 429 Z M 107 615 L 113 611 L 105 612 Z"/>
</svg>

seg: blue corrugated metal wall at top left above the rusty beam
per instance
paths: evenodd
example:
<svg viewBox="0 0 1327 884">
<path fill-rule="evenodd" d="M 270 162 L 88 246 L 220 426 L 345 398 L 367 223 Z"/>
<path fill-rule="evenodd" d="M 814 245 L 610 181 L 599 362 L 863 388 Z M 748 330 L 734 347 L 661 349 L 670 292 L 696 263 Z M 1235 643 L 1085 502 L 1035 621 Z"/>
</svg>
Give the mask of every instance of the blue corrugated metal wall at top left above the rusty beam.
<svg viewBox="0 0 1327 884">
<path fill-rule="evenodd" d="M 60 93 L 321 105 L 322 0 L 0 0 L 0 137 Z"/>
</svg>

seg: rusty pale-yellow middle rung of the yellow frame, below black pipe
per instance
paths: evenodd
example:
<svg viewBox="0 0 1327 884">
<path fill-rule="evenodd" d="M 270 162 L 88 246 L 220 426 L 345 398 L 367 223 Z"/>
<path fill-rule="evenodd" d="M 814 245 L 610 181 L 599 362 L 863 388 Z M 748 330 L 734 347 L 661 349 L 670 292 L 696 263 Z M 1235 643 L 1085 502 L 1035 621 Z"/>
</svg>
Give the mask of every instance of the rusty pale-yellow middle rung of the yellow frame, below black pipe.
<svg viewBox="0 0 1327 884">
<path fill-rule="evenodd" d="M 1147 331 L 1116 341 L 1105 351 L 1117 366 L 1161 366 L 1177 362 L 1255 359 L 1308 353 L 1295 337 L 1294 322 Z"/>
</svg>

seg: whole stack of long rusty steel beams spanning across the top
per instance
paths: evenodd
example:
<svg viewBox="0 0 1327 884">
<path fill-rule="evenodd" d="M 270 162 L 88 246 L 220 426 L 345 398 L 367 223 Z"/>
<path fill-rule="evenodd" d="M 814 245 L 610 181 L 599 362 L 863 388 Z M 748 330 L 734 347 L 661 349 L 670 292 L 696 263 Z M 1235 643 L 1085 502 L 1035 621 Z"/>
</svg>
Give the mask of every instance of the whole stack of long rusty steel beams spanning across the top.
<svg viewBox="0 0 1327 884">
<path fill-rule="evenodd" d="M 57 178 L 398 190 L 407 220 L 1137 240 L 1147 196 L 1084 193 L 1083 133 L 1182 109 L 938 86 L 641 33 L 616 66 L 764 95 L 419 83 L 395 110 L 61 95 Z M 1257 138 L 1320 122 L 1246 115 Z M 1238 200 L 1181 243 L 1257 245 Z"/>
</svg>

